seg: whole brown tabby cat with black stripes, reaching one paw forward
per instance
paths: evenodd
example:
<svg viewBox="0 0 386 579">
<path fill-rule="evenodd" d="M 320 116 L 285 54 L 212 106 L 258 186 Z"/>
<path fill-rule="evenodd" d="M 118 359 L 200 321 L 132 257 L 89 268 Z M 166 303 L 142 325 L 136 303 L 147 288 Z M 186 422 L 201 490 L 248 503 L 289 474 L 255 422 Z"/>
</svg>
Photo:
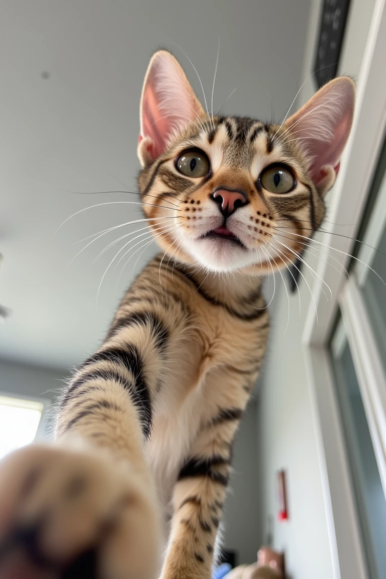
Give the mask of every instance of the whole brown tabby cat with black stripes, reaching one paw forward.
<svg viewBox="0 0 386 579">
<path fill-rule="evenodd" d="M 162 252 L 69 381 L 54 444 L 0 464 L 2 579 L 211 577 L 269 334 L 262 280 L 321 225 L 354 101 L 341 77 L 281 125 L 209 115 L 174 56 L 153 55 L 138 186 Z"/>
</svg>

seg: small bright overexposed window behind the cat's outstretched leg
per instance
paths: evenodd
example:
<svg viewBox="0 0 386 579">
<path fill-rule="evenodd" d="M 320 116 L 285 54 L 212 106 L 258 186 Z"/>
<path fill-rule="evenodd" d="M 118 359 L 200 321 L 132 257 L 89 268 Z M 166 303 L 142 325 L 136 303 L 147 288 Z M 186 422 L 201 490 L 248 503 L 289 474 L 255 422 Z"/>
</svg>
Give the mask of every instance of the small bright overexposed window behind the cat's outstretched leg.
<svg viewBox="0 0 386 579">
<path fill-rule="evenodd" d="M 0 396 L 0 459 L 34 440 L 43 408 L 41 402 Z"/>
</svg>

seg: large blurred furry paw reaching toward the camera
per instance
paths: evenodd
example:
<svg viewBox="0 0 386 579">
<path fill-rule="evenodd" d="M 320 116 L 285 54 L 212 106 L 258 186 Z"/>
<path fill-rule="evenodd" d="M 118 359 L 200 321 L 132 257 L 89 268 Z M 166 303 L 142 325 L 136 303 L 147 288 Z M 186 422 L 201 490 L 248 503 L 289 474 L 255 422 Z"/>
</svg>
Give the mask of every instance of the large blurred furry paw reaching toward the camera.
<svg viewBox="0 0 386 579">
<path fill-rule="evenodd" d="M 103 451 L 34 445 L 0 462 L 2 579 L 155 579 L 158 540 L 149 485 Z"/>
</svg>

